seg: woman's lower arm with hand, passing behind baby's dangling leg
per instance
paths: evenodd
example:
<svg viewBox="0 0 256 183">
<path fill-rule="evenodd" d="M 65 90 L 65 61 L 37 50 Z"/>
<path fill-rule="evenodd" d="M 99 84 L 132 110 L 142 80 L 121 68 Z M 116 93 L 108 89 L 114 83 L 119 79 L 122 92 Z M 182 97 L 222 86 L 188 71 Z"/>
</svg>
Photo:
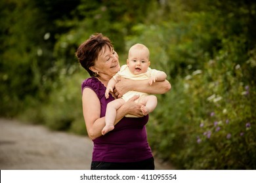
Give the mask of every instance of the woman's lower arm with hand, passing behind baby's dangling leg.
<svg viewBox="0 0 256 183">
<path fill-rule="evenodd" d="M 140 105 L 134 102 L 138 97 L 139 96 L 133 97 L 133 99 L 127 101 L 125 105 L 117 110 L 114 125 L 116 125 L 126 114 L 132 114 L 138 117 L 143 116 L 140 110 Z M 100 101 L 93 90 L 85 88 L 83 90 L 82 103 L 83 118 L 85 120 L 87 133 L 89 138 L 94 140 L 102 135 L 101 131 L 105 126 L 105 117 L 100 118 Z"/>
</svg>

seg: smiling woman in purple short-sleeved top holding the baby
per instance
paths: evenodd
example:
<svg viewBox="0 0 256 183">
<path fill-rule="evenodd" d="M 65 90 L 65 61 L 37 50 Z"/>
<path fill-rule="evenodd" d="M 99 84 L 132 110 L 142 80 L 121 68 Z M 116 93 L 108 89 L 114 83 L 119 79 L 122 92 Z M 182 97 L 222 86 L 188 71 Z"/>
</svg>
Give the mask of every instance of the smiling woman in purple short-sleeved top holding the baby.
<svg viewBox="0 0 256 183">
<path fill-rule="evenodd" d="M 91 169 L 154 169 L 154 158 L 146 136 L 148 115 L 143 116 L 135 96 L 117 110 L 115 129 L 102 136 L 106 106 L 123 93 L 134 90 L 146 93 L 165 93 L 171 89 L 167 80 L 150 86 L 148 80 L 123 79 L 115 93 L 106 99 L 108 81 L 120 69 L 118 55 L 101 33 L 92 35 L 77 49 L 76 56 L 91 78 L 82 83 L 83 116 L 89 138 L 93 140 Z M 140 118 L 125 118 L 127 114 Z"/>
</svg>

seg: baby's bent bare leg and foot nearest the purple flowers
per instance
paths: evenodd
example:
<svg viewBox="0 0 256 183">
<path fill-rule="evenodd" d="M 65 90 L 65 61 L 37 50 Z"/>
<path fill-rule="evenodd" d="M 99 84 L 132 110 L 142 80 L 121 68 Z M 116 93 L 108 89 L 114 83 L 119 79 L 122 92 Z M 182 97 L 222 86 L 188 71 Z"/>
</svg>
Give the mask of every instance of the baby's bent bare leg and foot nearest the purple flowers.
<svg viewBox="0 0 256 183">
<path fill-rule="evenodd" d="M 155 95 L 148 95 L 146 97 L 142 97 L 142 99 L 139 100 L 139 103 L 142 104 L 142 107 L 140 107 L 142 114 L 146 116 L 156 108 L 156 105 L 158 105 L 158 99 Z"/>
</svg>

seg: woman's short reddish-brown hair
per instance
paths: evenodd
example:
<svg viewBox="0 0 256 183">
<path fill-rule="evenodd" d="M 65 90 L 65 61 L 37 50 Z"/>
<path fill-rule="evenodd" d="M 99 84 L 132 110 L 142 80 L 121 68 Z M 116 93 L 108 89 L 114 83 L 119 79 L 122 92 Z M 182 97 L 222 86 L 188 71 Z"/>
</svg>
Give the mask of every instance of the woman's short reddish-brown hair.
<svg viewBox="0 0 256 183">
<path fill-rule="evenodd" d="M 87 41 L 83 42 L 79 48 L 77 48 L 75 56 L 90 76 L 97 76 L 97 74 L 91 71 L 89 67 L 95 65 L 95 61 L 98 59 L 98 54 L 100 54 L 102 48 L 105 46 L 108 46 L 110 50 L 113 48 L 108 37 L 105 37 L 102 33 L 95 33 L 94 35 L 91 35 Z"/>
</svg>

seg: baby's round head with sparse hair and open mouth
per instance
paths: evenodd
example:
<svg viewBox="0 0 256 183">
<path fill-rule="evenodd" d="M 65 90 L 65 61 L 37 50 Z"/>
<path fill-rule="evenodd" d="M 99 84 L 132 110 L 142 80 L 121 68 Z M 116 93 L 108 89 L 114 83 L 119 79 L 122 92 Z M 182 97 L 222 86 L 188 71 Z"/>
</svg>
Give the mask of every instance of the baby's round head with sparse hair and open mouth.
<svg viewBox="0 0 256 183">
<path fill-rule="evenodd" d="M 150 66 L 150 52 L 144 44 L 135 44 L 131 46 L 128 54 L 127 65 L 134 75 L 146 73 Z"/>
</svg>

